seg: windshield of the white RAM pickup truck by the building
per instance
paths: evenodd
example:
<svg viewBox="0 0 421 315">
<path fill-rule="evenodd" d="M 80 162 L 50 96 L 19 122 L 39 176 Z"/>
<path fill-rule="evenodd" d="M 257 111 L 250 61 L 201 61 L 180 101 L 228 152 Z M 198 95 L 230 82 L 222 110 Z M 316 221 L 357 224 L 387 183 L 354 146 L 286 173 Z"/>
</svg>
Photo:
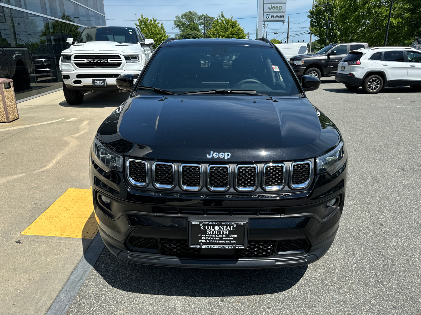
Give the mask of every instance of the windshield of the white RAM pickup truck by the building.
<svg viewBox="0 0 421 315">
<path fill-rule="evenodd" d="M 135 30 L 131 28 L 87 27 L 80 34 L 77 42 L 122 42 L 136 44 Z"/>
</svg>

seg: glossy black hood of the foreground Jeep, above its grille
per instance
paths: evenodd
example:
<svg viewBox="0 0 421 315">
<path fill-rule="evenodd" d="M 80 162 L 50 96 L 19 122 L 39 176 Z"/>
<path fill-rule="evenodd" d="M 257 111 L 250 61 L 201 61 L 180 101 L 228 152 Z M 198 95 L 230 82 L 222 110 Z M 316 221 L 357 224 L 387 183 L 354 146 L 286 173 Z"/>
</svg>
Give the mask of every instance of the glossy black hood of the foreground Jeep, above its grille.
<svg viewBox="0 0 421 315">
<path fill-rule="evenodd" d="M 130 156 L 212 163 L 312 158 L 340 141 L 306 98 L 221 95 L 129 97 L 97 136 Z"/>
</svg>

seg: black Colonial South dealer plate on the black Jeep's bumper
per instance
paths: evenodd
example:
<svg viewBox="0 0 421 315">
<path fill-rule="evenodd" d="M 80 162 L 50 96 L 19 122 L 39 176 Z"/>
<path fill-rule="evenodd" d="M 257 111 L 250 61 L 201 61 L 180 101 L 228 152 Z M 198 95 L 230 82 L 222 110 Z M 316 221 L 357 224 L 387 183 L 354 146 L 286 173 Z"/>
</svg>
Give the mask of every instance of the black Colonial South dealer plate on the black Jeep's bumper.
<svg viewBox="0 0 421 315">
<path fill-rule="evenodd" d="M 189 247 L 246 248 L 247 222 L 189 221 Z"/>
</svg>

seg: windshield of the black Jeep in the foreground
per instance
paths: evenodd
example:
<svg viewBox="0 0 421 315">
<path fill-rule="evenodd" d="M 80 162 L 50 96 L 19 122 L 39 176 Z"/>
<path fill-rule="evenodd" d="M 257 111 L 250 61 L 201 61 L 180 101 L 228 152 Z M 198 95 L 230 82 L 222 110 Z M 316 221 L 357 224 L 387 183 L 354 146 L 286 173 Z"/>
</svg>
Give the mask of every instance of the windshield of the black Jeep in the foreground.
<svg viewBox="0 0 421 315">
<path fill-rule="evenodd" d="M 246 45 L 162 47 L 139 85 L 178 94 L 232 89 L 254 90 L 264 95 L 301 96 L 277 50 Z M 144 94 L 141 87 L 137 91 Z M 150 94 L 150 91 L 143 92 Z"/>
</svg>

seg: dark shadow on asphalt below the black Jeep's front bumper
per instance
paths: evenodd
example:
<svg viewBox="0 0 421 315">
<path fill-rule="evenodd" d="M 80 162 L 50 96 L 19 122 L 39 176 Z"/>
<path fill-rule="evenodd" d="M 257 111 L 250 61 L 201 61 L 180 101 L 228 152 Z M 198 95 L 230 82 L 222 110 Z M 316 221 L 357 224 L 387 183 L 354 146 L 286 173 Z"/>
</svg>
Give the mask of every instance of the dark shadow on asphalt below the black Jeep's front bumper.
<svg viewBox="0 0 421 315">
<path fill-rule="evenodd" d="M 94 269 L 110 286 L 139 293 L 182 297 L 273 294 L 295 286 L 307 265 L 264 269 L 196 269 L 125 262 L 106 248 Z"/>
</svg>

